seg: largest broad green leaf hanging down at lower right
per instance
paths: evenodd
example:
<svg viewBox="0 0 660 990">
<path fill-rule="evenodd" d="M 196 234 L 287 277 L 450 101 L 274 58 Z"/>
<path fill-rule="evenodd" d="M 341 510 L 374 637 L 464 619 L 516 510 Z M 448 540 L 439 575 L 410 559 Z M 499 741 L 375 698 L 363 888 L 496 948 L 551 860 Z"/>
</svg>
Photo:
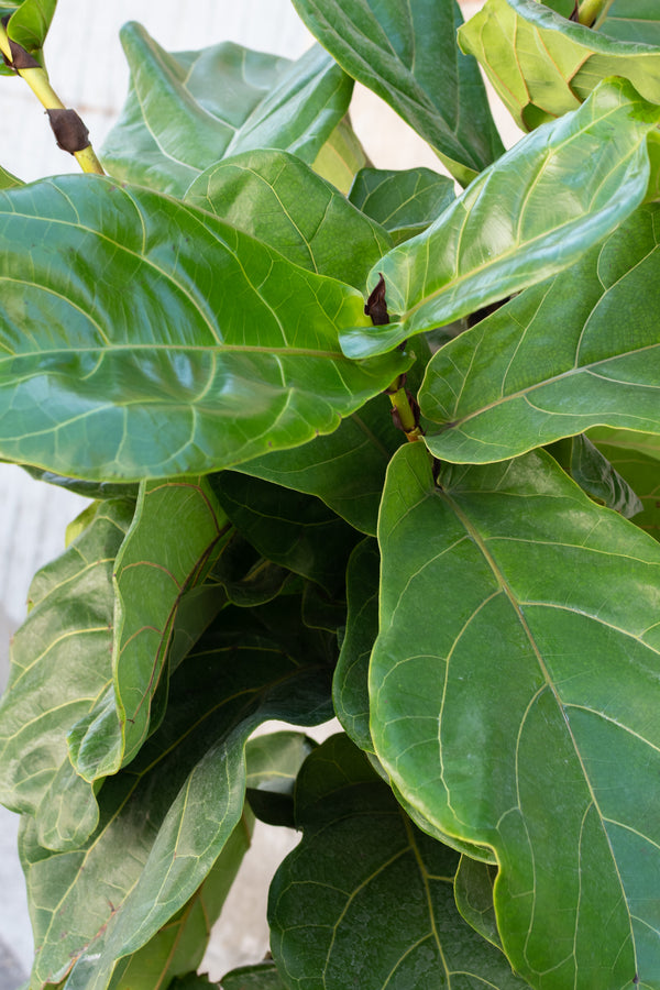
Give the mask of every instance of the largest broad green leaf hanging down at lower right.
<svg viewBox="0 0 660 990">
<path fill-rule="evenodd" d="M 490 846 L 539 990 L 657 988 L 660 548 L 544 452 L 391 465 L 371 730 L 404 798 Z"/>
</svg>

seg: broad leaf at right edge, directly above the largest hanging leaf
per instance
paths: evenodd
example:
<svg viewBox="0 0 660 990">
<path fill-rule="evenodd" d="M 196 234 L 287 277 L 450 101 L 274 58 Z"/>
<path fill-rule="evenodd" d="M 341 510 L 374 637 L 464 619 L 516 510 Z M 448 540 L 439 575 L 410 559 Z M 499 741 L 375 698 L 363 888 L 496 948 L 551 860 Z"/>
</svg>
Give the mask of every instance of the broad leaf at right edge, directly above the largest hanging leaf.
<svg viewBox="0 0 660 990">
<path fill-rule="evenodd" d="M 436 457 L 504 460 L 598 424 L 660 432 L 659 215 L 640 208 L 435 355 L 419 402 L 444 427 L 426 438 Z"/>
</svg>

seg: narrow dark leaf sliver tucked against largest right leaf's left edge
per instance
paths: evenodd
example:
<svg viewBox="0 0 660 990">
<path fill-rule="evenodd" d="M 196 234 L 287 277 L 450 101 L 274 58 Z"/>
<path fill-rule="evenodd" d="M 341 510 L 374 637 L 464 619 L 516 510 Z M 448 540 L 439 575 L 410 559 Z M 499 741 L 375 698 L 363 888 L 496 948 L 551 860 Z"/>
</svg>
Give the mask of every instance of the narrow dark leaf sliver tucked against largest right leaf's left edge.
<svg viewBox="0 0 660 990">
<path fill-rule="evenodd" d="M 373 752 L 369 728 L 369 661 L 378 635 L 381 554 L 375 540 L 358 543 L 346 570 L 346 631 L 332 681 L 337 717 L 353 743 Z"/>
</svg>

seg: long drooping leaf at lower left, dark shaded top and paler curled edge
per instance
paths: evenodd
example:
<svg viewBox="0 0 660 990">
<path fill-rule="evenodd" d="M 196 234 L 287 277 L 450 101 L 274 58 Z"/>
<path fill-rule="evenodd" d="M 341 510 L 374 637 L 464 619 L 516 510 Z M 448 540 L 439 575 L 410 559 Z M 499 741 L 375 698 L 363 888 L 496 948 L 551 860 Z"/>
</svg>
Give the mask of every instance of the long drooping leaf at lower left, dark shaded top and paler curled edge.
<svg viewBox="0 0 660 990">
<path fill-rule="evenodd" d="M 180 911 L 224 848 L 243 809 L 253 728 L 267 718 L 330 717 L 336 646 L 323 634 L 295 635 L 300 607 L 299 596 L 287 596 L 221 613 L 172 676 L 167 718 L 131 766 L 106 780 L 85 846 L 51 854 L 28 823 L 33 987 L 66 977 L 67 990 L 106 988 L 117 960 Z"/>
</svg>

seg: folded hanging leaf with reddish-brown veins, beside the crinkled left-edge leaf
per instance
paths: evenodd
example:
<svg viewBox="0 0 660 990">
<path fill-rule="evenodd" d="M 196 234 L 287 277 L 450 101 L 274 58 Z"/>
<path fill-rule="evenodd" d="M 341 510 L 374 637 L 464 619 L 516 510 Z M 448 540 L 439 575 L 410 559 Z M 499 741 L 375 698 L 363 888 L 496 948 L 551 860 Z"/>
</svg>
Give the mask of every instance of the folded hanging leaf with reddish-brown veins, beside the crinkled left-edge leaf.
<svg viewBox="0 0 660 990">
<path fill-rule="evenodd" d="M 69 734 L 72 761 L 87 780 L 116 773 L 146 738 L 176 613 L 230 529 L 204 477 L 141 485 L 112 572 L 113 683 Z"/>
</svg>

